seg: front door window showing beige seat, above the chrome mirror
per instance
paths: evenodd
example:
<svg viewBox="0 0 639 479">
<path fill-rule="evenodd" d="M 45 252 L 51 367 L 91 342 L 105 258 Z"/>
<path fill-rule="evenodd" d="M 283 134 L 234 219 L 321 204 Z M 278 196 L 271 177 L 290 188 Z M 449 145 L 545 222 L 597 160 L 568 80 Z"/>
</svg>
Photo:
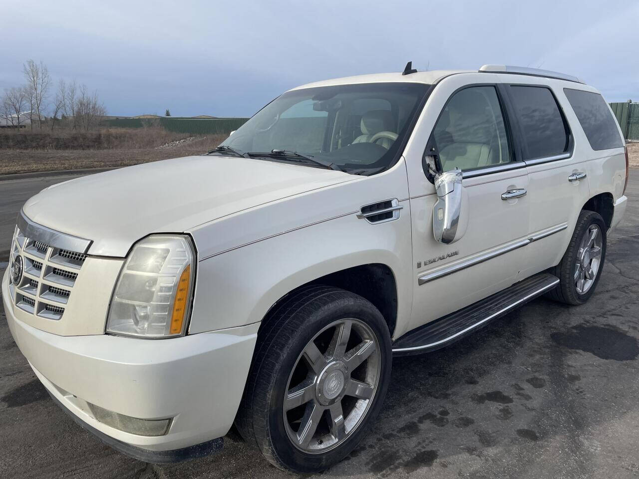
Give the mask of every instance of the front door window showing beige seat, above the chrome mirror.
<svg viewBox="0 0 639 479">
<path fill-rule="evenodd" d="M 511 161 L 511 150 L 494 86 L 455 93 L 433 130 L 443 171 L 470 170 Z"/>
</svg>

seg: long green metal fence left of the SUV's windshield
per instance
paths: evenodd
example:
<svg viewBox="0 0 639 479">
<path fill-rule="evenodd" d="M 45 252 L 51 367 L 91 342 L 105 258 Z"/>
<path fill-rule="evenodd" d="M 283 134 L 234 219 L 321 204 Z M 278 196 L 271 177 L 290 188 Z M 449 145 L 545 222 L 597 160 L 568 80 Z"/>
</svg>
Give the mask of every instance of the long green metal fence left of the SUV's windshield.
<svg viewBox="0 0 639 479">
<path fill-rule="evenodd" d="M 227 135 L 246 123 L 248 118 L 123 118 L 105 120 L 109 128 L 142 128 L 162 126 L 169 132 L 194 135 Z"/>
</svg>

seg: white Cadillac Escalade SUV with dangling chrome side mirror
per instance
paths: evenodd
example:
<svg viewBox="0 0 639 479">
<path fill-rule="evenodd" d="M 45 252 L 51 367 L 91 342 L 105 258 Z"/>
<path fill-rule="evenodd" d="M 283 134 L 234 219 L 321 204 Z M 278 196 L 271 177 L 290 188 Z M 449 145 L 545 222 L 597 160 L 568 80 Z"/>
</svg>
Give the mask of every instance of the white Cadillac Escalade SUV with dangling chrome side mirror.
<svg viewBox="0 0 639 479">
<path fill-rule="evenodd" d="M 561 73 L 365 75 L 292 89 L 207 155 L 50 186 L 3 283 L 13 337 L 65 411 L 149 462 L 222 447 L 279 468 L 347 455 L 392 357 L 541 294 L 594 292 L 627 155 Z"/>
</svg>

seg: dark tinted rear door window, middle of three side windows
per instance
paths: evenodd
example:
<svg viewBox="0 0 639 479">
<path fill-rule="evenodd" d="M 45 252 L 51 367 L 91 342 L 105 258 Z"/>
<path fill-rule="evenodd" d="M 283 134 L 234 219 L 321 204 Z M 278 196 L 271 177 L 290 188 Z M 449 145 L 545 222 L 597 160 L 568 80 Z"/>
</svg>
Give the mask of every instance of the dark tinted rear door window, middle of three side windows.
<svg viewBox="0 0 639 479">
<path fill-rule="evenodd" d="M 539 86 L 511 86 L 512 103 L 521 126 L 525 160 L 568 151 L 569 135 L 555 96 Z"/>
</svg>

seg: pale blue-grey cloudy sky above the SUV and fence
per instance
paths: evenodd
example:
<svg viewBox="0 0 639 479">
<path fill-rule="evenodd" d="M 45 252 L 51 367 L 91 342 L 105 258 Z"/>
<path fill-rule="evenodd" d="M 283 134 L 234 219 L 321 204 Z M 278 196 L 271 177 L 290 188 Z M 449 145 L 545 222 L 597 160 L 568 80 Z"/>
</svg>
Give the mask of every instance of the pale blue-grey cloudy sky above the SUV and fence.
<svg viewBox="0 0 639 479">
<path fill-rule="evenodd" d="M 0 92 L 42 60 L 111 115 L 251 116 L 307 82 L 486 63 L 639 101 L 636 0 L 0 0 Z M 15 19 L 17 21 L 12 21 Z"/>
</svg>

